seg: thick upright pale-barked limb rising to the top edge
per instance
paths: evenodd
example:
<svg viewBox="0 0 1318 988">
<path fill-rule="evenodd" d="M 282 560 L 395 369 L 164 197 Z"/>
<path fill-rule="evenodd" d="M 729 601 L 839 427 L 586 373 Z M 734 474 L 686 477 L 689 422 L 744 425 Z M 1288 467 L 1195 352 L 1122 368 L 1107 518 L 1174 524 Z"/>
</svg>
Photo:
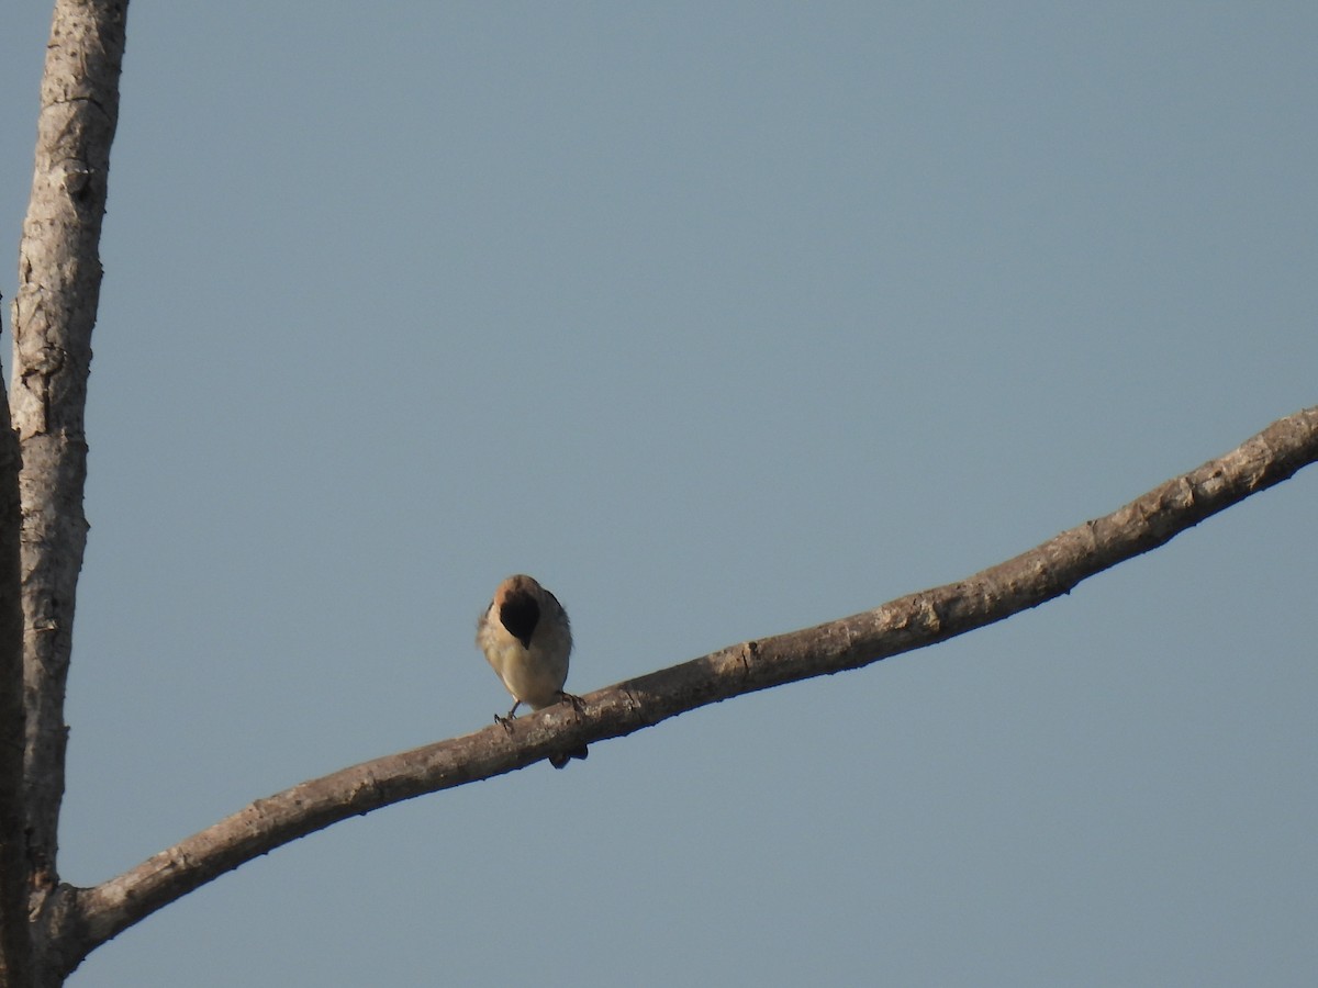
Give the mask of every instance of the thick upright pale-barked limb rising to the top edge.
<svg viewBox="0 0 1318 988">
<path fill-rule="evenodd" d="M 11 407 L 22 449 L 28 852 L 54 888 L 65 789 L 65 684 L 87 541 L 83 411 L 100 295 L 99 240 L 119 119 L 127 0 L 58 0 L 13 308 Z"/>
</svg>

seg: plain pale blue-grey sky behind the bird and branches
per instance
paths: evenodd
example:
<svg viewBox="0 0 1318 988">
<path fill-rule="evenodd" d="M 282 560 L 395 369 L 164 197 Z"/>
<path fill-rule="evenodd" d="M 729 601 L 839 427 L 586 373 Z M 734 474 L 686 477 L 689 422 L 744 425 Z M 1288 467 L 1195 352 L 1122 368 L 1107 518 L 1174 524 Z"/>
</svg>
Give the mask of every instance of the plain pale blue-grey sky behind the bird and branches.
<svg viewBox="0 0 1318 988">
<path fill-rule="evenodd" d="M 65 877 L 488 725 L 509 573 L 585 693 L 1314 404 L 1315 50 L 1313 3 L 134 0 Z M 1315 506 L 341 823 L 70 984 L 1311 985 Z"/>
</svg>

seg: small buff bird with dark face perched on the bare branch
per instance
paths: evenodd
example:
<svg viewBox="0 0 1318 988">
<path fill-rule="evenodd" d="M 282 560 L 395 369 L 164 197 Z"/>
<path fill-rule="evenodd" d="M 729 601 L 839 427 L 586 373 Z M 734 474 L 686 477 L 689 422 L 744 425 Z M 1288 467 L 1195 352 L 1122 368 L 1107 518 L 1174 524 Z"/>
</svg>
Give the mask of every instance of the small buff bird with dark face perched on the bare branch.
<svg viewBox="0 0 1318 988">
<path fill-rule="evenodd" d="M 494 715 L 507 725 L 526 703 L 542 710 L 560 701 L 579 705 L 580 697 L 563 692 L 572 652 L 572 626 L 559 598 L 525 573 L 510 576 L 494 590 L 494 599 L 476 623 L 476 647 L 513 694 L 507 717 Z M 550 756 L 550 764 L 564 768 L 571 759 L 584 759 L 583 744 Z"/>
</svg>

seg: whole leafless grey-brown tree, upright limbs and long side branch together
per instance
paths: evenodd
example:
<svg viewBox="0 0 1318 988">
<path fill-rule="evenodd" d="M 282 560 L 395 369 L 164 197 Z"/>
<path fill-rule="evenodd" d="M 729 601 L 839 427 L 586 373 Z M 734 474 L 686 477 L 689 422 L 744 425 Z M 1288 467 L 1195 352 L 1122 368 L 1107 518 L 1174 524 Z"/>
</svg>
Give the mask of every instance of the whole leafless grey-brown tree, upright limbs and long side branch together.
<svg viewBox="0 0 1318 988">
<path fill-rule="evenodd" d="M 348 817 L 1002 620 L 1318 460 L 1315 407 L 965 581 L 724 648 L 598 690 L 579 705 L 538 711 L 511 730 L 492 726 L 302 782 L 100 885 L 63 884 L 57 867 L 63 701 L 87 535 L 83 412 L 127 8 L 127 0 L 58 0 L 42 80 L 14 302 L 12 429 L 0 415 L 0 985 L 58 985 L 91 950 L 157 909 Z"/>
</svg>

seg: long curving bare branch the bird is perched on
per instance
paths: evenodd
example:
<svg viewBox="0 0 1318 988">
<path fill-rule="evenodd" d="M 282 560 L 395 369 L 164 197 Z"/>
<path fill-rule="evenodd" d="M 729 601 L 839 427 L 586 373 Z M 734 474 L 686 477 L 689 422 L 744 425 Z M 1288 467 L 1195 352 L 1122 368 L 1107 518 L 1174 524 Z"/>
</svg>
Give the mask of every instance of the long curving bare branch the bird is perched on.
<svg viewBox="0 0 1318 988">
<path fill-rule="evenodd" d="M 511 772 L 552 752 L 619 738 L 687 710 L 796 680 L 855 669 L 944 642 L 1072 590 L 1318 460 L 1318 407 L 1155 487 L 1106 518 L 1015 559 L 871 611 L 746 642 L 476 734 L 302 782 L 194 834 L 95 888 L 62 887 L 65 955 L 76 964 L 161 906 L 281 844 L 424 793 Z"/>
</svg>

